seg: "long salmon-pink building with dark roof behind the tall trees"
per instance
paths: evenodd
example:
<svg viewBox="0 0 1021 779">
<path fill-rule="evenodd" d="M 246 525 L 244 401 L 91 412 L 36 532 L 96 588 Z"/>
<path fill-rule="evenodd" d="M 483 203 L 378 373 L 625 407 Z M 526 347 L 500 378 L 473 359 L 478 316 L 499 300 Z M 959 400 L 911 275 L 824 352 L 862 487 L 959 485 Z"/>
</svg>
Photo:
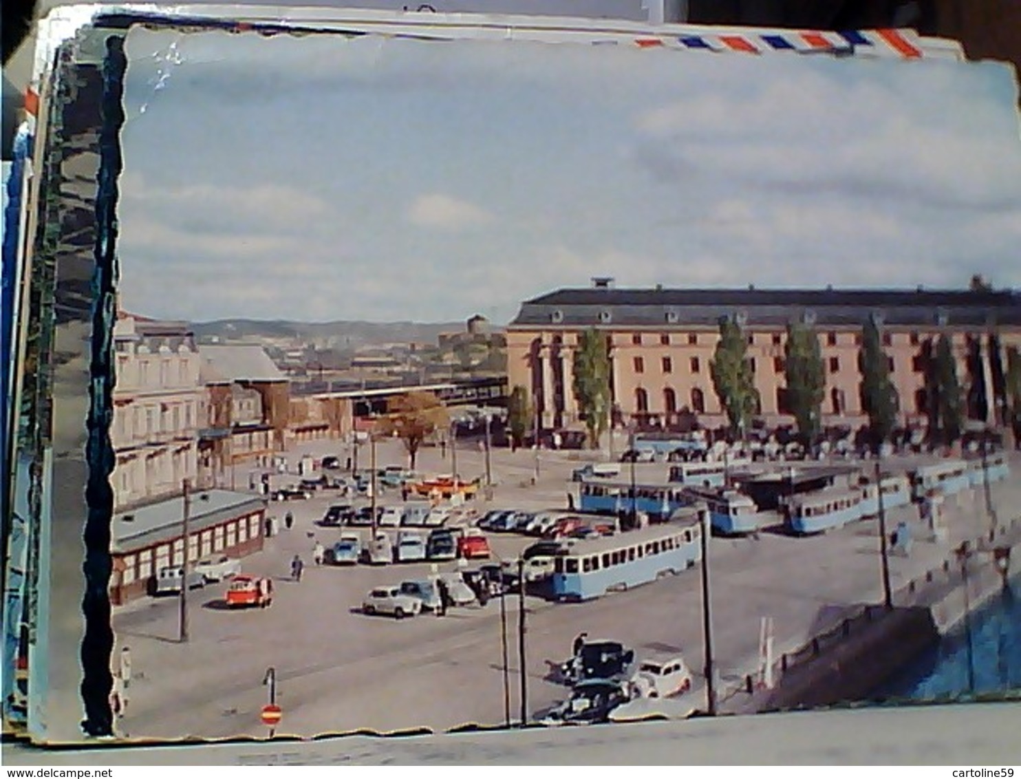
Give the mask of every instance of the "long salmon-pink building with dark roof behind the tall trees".
<svg viewBox="0 0 1021 779">
<path fill-rule="evenodd" d="M 507 327 L 508 385 L 524 386 L 543 428 L 579 423 L 572 390 L 579 333 L 595 328 L 611 347 L 615 423 L 672 426 L 685 410 L 703 425 L 725 422 L 710 363 L 721 318 L 736 318 L 748 340 L 760 416 L 790 423 L 785 404 L 784 343 L 792 321 L 811 323 L 826 369 L 825 425 L 860 425 L 862 327 L 881 324 L 902 422 L 922 423 L 930 398 L 925 352 L 952 337 L 970 416 L 992 422 L 1005 407 L 1004 351 L 1021 345 L 1021 296 L 1013 292 L 918 290 L 616 289 L 609 279 L 587 289 L 562 289 L 526 301 Z M 989 349 L 990 334 L 994 334 Z M 999 348 L 995 346 L 999 344 Z"/>
</svg>

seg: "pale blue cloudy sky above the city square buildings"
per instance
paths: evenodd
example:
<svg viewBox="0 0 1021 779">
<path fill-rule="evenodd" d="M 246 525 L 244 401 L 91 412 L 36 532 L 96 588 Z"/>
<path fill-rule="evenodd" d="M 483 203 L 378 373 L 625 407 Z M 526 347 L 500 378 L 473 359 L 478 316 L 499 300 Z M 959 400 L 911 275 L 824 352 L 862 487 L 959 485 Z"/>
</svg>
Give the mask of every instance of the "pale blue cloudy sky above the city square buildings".
<svg viewBox="0 0 1021 779">
<path fill-rule="evenodd" d="M 1021 287 L 992 63 L 135 31 L 125 305 L 504 323 L 619 286 Z"/>
</svg>

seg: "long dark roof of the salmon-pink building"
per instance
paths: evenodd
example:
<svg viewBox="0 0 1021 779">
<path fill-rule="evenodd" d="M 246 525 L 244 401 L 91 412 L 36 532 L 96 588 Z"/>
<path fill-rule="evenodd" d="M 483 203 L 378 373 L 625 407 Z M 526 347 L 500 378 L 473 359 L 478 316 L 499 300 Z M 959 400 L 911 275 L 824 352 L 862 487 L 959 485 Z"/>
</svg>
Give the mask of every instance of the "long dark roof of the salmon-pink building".
<svg viewBox="0 0 1021 779">
<path fill-rule="evenodd" d="M 749 326 L 783 327 L 808 317 L 817 325 L 1021 325 L 1013 291 L 809 289 L 561 289 L 524 302 L 512 328 L 716 327 L 740 314 Z"/>
</svg>

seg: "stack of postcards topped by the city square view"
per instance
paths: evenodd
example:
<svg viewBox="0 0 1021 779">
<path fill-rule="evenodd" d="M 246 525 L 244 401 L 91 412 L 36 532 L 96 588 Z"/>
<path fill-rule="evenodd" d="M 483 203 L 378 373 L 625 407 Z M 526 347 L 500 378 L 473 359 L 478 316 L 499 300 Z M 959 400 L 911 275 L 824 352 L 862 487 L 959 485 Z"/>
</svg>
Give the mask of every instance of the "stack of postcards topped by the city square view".
<svg viewBox="0 0 1021 779">
<path fill-rule="evenodd" d="M 1016 694 L 1012 70 L 891 31 L 394 18 L 57 48 L 8 725 Z"/>
</svg>

